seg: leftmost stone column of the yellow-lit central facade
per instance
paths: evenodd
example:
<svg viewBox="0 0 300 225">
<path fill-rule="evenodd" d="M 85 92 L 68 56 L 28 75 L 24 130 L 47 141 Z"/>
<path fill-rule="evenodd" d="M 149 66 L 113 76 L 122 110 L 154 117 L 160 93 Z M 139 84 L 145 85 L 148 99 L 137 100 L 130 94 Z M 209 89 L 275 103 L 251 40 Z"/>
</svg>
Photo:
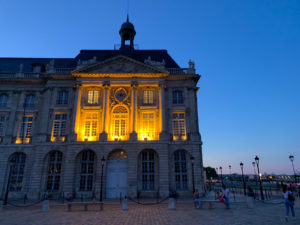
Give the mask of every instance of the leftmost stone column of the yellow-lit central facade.
<svg viewBox="0 0 300 225">
<path fill-rule="evenodd" d="M 75 85 L 75 100 L 74 100 L 74 107 L 72 111 L 72 124 L 71 124 L 71 134 L 70 134 L 70 141 L 76 142 L 77 141 L 77 124 L 76 122 L 79 121 L 78 117 L 80 115 L 80 101 L 81 101 L 81 85 Z"/>
</svg>

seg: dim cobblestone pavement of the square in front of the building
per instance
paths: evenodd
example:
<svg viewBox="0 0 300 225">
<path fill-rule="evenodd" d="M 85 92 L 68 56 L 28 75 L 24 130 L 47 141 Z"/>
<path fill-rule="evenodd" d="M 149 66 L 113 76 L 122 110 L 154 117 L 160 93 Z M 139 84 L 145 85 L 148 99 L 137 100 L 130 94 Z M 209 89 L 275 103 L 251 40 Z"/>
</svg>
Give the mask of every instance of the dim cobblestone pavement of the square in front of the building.
<svg viewBox="0 0 300 225">
<path fill-rule="evenodd" d="M 213 209 L 204 205 L 203 209 L 194 209 L 190 202 L 178 202 L 176 210 L 168 209 L 167 204 L 137 205 L 129 204 L 129 211 L 122 211 L 121 205 L 105 204 L 104 211 L 67 212 L 66 205 L 55 205 L 51 202 L 49 212 L 41 212 L 42 206 L 28 208 L 6 207 L 0 211 L 1 225 L 276 225 L 300 224 L 300 208 L 296 208 L 296 220 L 288 222 L 284 219 L 284 205 L 258 202 L 254 209 L 246 207 L 245 203 L 232 203 L 227 210 L 217 203 Z M 79 206 L 78 206 L 79 207 Z M 81 209 L 82 210 L 82 209 Z"/>
</svg>

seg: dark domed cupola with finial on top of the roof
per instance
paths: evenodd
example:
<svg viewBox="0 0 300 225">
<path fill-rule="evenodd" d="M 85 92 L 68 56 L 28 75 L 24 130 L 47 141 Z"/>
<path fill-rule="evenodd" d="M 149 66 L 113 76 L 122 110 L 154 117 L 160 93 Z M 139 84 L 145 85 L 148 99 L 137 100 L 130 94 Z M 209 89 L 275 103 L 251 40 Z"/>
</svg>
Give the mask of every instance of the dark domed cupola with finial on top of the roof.
<svg viewBox="0 0 300 225">
<path fill-rule="evenodd" d="M 136 34 L 134 30 L 134 26 L 129 22 L 129 18 L 127 15 L 127 20 L 122 24 L 121 29 L 119 31 L 121 36 L 121 47 L 120 50 L 133 50 L 134 49 L 134 36 Z M 127 43 L 129 42 L 129 43 Z"/>
</svg>

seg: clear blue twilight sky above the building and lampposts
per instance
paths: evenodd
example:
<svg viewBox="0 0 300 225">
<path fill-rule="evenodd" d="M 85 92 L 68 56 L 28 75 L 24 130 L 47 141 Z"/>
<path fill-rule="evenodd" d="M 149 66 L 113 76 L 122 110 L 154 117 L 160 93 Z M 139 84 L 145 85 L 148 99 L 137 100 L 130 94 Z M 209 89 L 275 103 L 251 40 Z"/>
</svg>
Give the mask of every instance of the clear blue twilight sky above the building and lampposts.
<svg viewBox="0 0 300 225">
<path fill-rule="evenodd" d="M 140 49 L 196 63 L 205 166 L 300 172 L 299 0 L 0 0 L 0 57 L 113 49 L 127 8 Z"/>
</svg>

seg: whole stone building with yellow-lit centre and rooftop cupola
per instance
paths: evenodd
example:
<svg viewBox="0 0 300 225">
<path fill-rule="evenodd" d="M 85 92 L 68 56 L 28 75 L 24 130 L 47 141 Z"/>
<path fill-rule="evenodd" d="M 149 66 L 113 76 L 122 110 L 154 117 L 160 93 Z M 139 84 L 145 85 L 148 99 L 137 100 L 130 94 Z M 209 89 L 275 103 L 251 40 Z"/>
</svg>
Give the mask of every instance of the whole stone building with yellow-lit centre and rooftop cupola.
<svg viewBox="0 0 300 225">
<path fill-rule="evenodd" d="M 0 58 L 0 197 L 203 190 L 194 63 L 135 49 L 128 19 L 119 33 L 120 49 Z"/>
</svg>

